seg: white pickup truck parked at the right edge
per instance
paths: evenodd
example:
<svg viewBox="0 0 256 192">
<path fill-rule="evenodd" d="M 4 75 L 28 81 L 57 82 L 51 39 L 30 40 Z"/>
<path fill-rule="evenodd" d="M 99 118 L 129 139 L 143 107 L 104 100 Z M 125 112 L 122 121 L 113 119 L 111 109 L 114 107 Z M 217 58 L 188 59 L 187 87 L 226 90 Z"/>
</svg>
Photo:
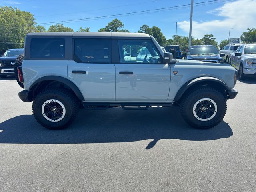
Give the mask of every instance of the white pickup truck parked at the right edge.
<svg viewBox="0 0 256 192">
<path fill-rule="evenodd" d="M 242 44 L 236 52 L 230 53 L 231 64 L 238 70 L 238 78 L 256 76 L 256 43 Z"/>
</svg>

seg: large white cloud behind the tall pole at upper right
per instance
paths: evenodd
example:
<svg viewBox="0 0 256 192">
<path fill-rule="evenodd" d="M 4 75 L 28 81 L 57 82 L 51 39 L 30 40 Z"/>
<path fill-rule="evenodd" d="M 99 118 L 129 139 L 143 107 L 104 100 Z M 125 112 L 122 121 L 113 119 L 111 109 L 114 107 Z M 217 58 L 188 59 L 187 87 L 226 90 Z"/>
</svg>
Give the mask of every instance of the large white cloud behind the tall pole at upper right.
<svg viewBox="0 0 256 192">
<path fill-rule="evenodd" d="M 208 12 L 216 19 L 209 21 L 194 21 L 192 23 L 192 36 L 202 38 L 205 34 L 213 34 L 216 40 L 228 39 L 229 28 L 230 38 L 240 37 L 246 29 L 256 27 L 256 0 L 237 0 L 227 2 L 222 7 Z M 221 19 L 217 19 L 221 18 Z M 189 33 L 189 21 L 178 22 L 178 27 Z"/>
</svg>

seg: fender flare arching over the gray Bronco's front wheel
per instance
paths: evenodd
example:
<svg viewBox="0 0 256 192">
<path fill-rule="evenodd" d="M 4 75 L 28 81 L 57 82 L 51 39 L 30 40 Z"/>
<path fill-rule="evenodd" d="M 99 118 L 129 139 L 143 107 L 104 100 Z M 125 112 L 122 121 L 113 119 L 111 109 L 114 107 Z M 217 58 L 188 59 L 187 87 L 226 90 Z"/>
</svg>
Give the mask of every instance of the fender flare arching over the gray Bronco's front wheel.
<svg viewBox="0 0 256 192">
<path fill-rule="evenodd" d="M 206 82 L 206 81 L 211 81 L 211 82 L 217 82 L 219 84 L 221 84 L 222 86 L 224 86 L 227 90 L 229 90 L 228 86 L 220 79 L 215 78 L 215 77 L 208 77 L 208 76 L 204 76 L 204 77 L 198 77 L 198 78 L 194 78 L 192 80 L 189 80 L 188 82 L 186 82 L 184 85 L 182 85 L 182 87 L 178 90 L 174 101 L 178 101 L 180 100 L 180 98 L 182 97 L 182 95 L 184 94 L 184 92 L 186 90 L 188 90 L 188 88 L 196 83 L 199 82 Z"/>
</svg>

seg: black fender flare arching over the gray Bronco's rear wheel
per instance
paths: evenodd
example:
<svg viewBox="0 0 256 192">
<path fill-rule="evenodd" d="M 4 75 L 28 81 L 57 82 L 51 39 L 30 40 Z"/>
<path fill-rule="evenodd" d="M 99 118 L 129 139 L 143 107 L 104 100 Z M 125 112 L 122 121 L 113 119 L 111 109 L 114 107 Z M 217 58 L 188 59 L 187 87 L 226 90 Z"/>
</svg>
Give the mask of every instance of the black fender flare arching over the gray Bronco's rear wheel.
<svg viewBox="0 0 256 192">
<path fill-rule="evenodd" d="M 33 90 L 33 87 L 40 83 L 40 82 L 43 82 L 43 81 L 49 81 L 49 80 L 52 80 L 52 81 L 57 81 L 57 82 L 61 82 L 63 84 L 65 84 L 66 86 L 68 86 L 74 93 L 75 95 L 77 96 L 77 98 L 80 100 L 80 101 L 84 101 L 84 96 L 82 95 L 81 91 L 79 90 L 79 88 L 70 80 L 68 80 L 67 78 L 64 78 L 64 77 L 61 77 L 61 76 L 44 76 L 44 77 L 41 77 L 39 79 L 37 79 L 30 87 L 29 87 L 29 91 Z"/>
</svg>

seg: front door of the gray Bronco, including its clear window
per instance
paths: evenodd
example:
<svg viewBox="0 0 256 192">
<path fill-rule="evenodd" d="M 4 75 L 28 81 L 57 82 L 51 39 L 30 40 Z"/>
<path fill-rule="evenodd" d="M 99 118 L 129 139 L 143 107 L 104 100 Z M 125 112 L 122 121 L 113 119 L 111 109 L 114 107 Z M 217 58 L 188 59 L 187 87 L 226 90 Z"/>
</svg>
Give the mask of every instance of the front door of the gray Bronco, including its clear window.
<svg viewBox="0 0 256 192">
<path fill-rule="evenodd" d="M 162 63 L 150 40 L 118 40 L 120 63 L 116 66 L 116 101 L 166 102 L 171 69 Z M 127 60 L 125 50 L 131 55 Z"/>
</svg>

